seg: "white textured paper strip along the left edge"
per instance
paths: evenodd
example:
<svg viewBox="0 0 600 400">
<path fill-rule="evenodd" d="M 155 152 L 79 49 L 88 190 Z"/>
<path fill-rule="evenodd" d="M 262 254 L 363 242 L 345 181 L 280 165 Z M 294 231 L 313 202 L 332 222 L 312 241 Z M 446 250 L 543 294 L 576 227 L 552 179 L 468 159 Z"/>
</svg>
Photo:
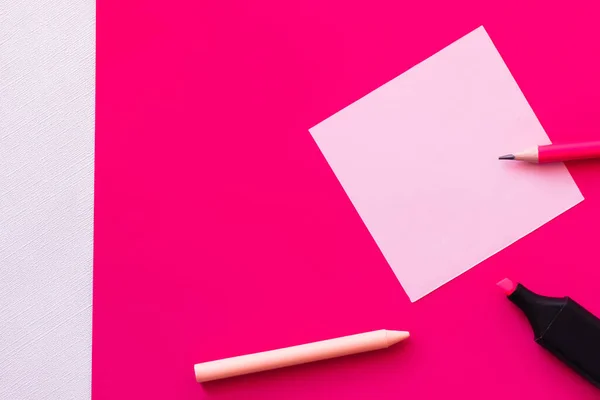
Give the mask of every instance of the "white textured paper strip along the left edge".
<svg viewBox="0 0 600 400">
<path fill-rule="evenodd" d="M 94 0 L 0 1 L 0 399 L 87 399 Z"/>
</svg>

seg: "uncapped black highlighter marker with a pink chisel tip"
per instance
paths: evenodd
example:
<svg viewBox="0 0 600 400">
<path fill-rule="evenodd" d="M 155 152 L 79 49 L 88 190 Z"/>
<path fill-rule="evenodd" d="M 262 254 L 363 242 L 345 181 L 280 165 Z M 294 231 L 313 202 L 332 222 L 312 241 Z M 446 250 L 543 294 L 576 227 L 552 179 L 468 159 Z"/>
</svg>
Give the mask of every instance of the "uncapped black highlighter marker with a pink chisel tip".
<svg viewBox="0 0 600 400">
<path fill-rule="evenodd" d="M 498 282 L 533 328 L 535 341 L 600 387 L 600 319 L 570 297 L 546 297 L 509 279 Z"/>
</svg>

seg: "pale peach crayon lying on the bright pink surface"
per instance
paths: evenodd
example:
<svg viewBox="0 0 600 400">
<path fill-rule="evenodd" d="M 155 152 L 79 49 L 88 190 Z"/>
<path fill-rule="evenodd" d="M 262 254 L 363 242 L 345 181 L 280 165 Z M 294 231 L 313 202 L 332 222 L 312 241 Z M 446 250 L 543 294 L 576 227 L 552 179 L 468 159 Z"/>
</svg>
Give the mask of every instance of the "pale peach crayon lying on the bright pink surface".
<svg viewBox="0 0 600 400">
<path fill-rule="evenodd" d="M 253 372 L 379 350 L 403 341 L 408 332 L 378 330 L 278 350 L 209 361 L 194 366 L 196 381 L 208 382 Z"/>
</svg>

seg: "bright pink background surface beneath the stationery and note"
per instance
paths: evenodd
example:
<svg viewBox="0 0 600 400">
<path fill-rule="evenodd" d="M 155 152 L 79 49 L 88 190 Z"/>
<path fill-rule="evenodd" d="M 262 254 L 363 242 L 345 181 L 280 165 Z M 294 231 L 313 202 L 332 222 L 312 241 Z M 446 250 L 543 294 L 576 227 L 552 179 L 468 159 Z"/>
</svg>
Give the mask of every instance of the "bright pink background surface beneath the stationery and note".
<svg viewBox="0 0 600 400">
<path fill-rule="evenodd" d="M 494 285 L 600 314 L 599 162 L 569 165 L 584 202 L 411 304 L 308 132 L 484 25 L 550 138 L 598 139 L 597 6 L 204 3 L 98 0 L 94 399 L 598 398 Z M 379 328 L 413 336 L 194 381 Z"/>
</svg>

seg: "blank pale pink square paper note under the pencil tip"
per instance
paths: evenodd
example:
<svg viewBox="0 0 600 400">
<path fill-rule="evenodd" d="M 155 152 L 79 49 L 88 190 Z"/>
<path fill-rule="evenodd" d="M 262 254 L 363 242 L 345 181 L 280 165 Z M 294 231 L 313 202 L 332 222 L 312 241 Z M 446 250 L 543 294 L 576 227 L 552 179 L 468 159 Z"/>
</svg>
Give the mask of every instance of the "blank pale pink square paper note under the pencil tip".
<svg viewBox="0 0 600 400">
<path fill-rule="evenodd" d="M 411 301 L 583 200 L 483 27 L 310 132 Z"/>
</svg>

